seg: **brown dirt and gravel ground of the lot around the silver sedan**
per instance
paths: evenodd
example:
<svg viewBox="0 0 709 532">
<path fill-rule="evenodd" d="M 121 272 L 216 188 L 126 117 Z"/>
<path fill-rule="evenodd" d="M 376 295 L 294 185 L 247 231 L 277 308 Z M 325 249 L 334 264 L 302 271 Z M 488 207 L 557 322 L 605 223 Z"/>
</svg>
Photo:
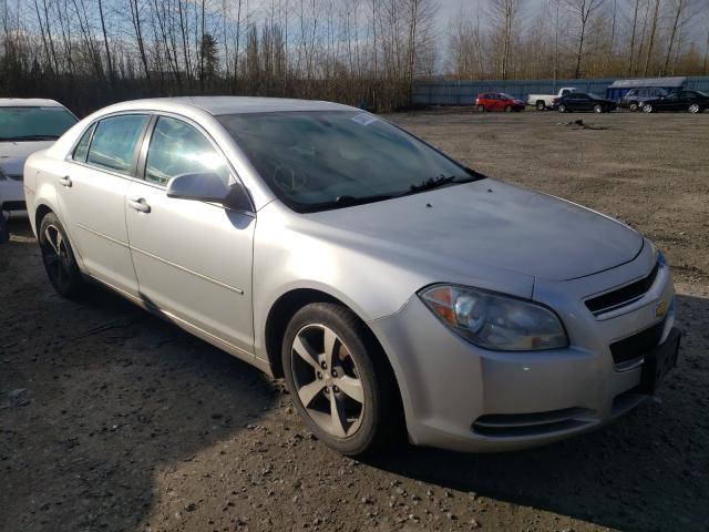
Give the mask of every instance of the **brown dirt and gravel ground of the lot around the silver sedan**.
<svg viewBox="0 0 709 532">
<path fill-rule="evenodd" d="M 559 122 L 583 119 L 602 129 Z M 623 218 L 667 253 L 686 337 L 658 396 L 510 454 L 327 450 L 282 383 L 0 245 L 0 530 L 709 530 L 709 113 L 420 113 L 470 166 Z"/>
</svg>

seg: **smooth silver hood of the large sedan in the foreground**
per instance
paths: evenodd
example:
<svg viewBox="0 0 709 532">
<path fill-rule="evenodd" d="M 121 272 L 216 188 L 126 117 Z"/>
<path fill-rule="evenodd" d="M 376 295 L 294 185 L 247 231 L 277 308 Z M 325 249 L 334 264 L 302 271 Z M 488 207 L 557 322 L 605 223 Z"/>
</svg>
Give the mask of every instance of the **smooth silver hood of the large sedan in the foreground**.
<svg viewBox="0 0 709 532">
<path fill-rule="evenodd" d="M 549 280 L 619 266 L 643 248 L 639 233 L 608 216 L 492 178 L 309 217 L 429 264 Z"/>
</svg>

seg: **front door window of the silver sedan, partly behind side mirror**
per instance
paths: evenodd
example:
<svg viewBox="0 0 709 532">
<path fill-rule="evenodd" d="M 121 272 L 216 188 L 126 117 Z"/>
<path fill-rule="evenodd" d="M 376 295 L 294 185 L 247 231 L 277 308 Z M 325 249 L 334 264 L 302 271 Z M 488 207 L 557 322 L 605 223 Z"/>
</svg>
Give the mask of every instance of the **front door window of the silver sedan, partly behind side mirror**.
<svg viewBox="0 0 709 532">
<path fill-rule="evenodd" d="M 145 181 L 165 185 L 178 175 L 203 173 L 232 184 L 224 157 L 201 132 L 182 120 L 161 116 L 147 150 Z"/>
</svg>

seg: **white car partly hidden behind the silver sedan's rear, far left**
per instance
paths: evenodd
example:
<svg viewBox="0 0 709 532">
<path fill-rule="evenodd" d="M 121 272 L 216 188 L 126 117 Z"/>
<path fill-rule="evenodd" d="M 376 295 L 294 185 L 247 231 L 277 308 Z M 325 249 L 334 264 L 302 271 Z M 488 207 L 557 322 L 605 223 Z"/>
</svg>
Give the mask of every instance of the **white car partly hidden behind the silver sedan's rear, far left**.
<svg viewBox="0 0 709 532">
<path fill-rule="evenodd" d="M 0 211 L 23 213 L 24 161 L 78 122 L 54 100 L 0 98 Z"/>
</svg>

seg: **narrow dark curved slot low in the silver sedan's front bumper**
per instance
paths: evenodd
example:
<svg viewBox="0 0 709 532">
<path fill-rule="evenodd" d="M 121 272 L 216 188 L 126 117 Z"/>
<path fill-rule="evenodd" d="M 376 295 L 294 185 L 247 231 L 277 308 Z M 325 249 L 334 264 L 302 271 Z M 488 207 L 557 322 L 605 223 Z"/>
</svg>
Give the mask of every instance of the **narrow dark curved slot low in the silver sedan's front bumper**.
<svg viewBox="0 0 709 532">
<path fill-rule="evenodd" d="M 496 438 L 542 436 L 588 424 L 593 413 L 593 410 L 576 407 L 547 412 L 485 415 L 475 420 L 473 431 Z"/>
</svg>

